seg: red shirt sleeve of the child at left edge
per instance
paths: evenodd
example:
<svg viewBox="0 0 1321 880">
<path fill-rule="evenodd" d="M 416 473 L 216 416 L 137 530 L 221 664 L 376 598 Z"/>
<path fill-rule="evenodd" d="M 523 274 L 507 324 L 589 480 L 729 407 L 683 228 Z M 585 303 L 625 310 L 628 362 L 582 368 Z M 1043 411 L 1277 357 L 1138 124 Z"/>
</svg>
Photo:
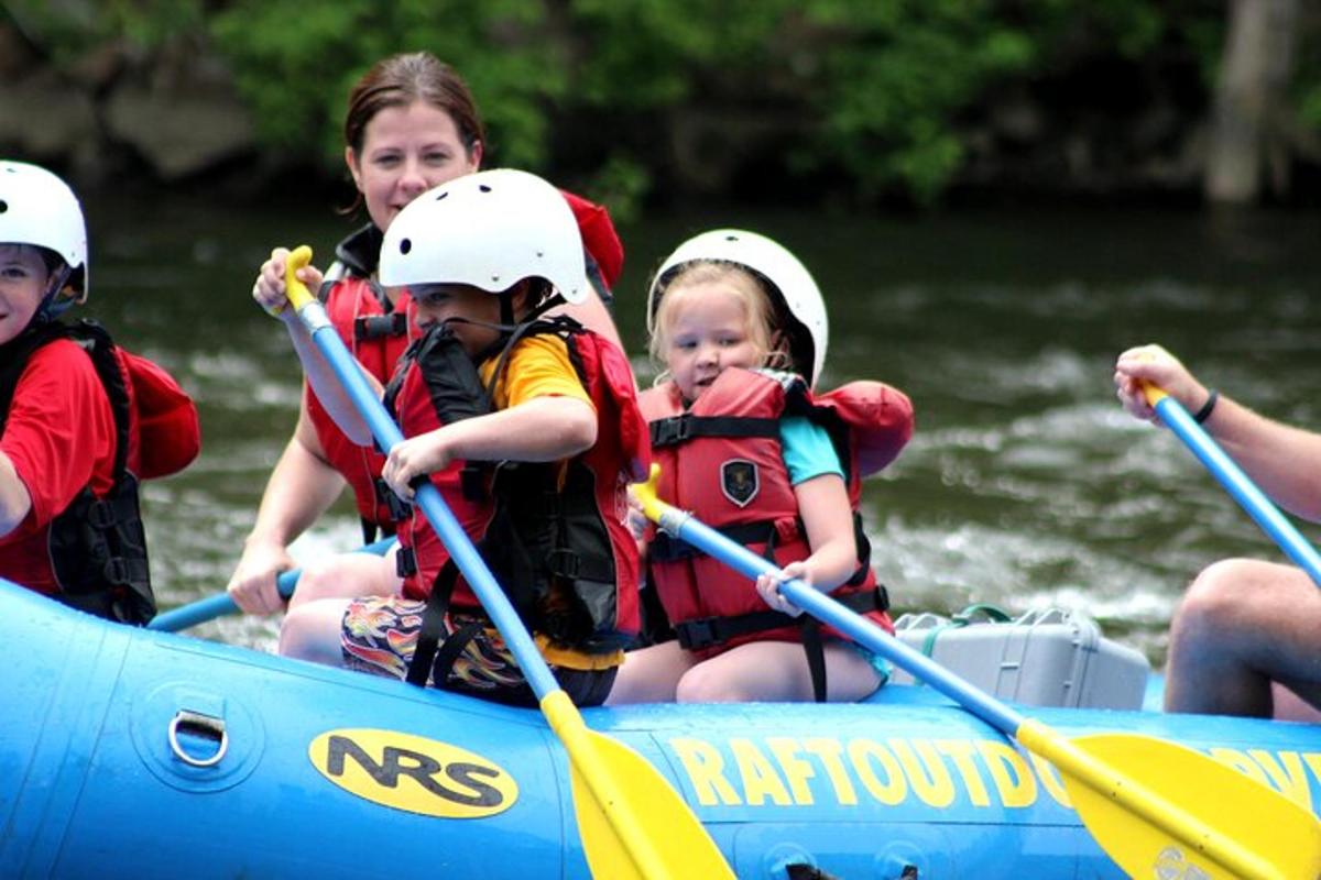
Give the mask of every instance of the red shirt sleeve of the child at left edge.
<svg viewBox="0 0 1321 880">
<path fill-rule="evenodd" d="M 114 482 L 115 417 L 91 358 L 69 340 L 32 356 L 5 421 L 0 450 L 32 496 L 32 512 L 11 536 L 44 528 L 95 475 L 92 491 Z"/>
</svg>

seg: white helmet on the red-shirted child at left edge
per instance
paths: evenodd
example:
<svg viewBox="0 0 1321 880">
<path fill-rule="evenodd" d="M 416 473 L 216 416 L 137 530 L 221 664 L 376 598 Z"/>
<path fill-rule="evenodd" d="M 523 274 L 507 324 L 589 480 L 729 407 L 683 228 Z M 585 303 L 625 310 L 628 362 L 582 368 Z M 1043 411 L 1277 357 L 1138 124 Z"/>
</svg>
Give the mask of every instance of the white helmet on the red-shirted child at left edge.
<svg viewBox="0 0 1321 880">
<path fill-rule="evenodd" d="M 0 244 L 32 244 L 69 264 L 87 298 L 87 226 L 69 185 L 37 165 L 0 161 Z"/>
</svg>

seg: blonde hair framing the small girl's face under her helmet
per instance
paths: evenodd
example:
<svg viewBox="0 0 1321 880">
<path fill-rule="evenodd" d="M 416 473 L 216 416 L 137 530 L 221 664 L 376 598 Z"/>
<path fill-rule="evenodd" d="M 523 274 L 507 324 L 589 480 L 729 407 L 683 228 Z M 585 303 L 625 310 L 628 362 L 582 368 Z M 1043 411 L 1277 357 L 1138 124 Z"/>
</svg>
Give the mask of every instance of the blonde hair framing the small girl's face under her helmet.
<svg viewBox="0 0 1321 880">
<path fill-rule="evenodd" d="M 687 298 L 684 294 L 701 284 L 725 284 L 737 297 L 738 305 L 742 307 L 748 339 L 757 351 L 760 367 L 790 368 L 789 352 L 785 350 L 782 334 L 775 326 L 775 310 L 761 281 L 737 263 L 694 260 L 680 267 L 670 278 L 662 290 L 660 302 L 657 305 L 651 342 L 647 346 L 651 360 L 660 367 L 655 384 L 659 385 L 670 379 L 666 350 L 670 347 L 674 323 Z"/>
</svg>

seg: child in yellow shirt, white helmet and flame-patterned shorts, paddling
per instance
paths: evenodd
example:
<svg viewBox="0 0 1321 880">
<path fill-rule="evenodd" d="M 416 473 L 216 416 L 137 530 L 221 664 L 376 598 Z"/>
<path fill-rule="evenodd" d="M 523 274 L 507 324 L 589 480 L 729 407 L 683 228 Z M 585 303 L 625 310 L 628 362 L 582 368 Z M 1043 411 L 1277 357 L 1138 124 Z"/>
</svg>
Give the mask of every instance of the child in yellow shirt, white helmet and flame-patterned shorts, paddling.
<svg viewBox="0 0 1321 880">
<path fill-rule="evenodd" d="M 572 211 L 523 172 L 457 178 L 395 218 L 380 280 L 408 285 L 424 334 L 383 389 L 408 438 L 383 478 L 411 499 L 412 480 L 429 475 L 564 690 L 600 703 L 638 628 L 626 486 L 643 475 L 649 446 L 620 348 L 546 317 L 594 296 Z M 256 293 L 267 307 L 285 302 Z M 370 443 L 301 323 L 285 321 L 317 396 Z M 289 611 L 281 653 L 535 705 L 420 511 L 402 524 L 399 549 L 367 565 L 367 578 L 343 584 L 359 598 Z"/>
</svg>

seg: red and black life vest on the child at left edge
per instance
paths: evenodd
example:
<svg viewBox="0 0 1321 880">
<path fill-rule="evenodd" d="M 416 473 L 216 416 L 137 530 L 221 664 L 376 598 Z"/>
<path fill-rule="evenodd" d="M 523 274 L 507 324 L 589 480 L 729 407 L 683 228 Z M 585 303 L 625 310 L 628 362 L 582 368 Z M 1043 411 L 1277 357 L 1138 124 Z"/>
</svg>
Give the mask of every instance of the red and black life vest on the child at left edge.
<svg viewBox="0 0 1321 880">
<path fill-rule="evenodd" d="M 87 352 L 115 418 L 114 483 L 103 495 L 91 486 L 46 525 L 46 558 L 55 598 L 120 623 L 145 624 L 156 615 L 139 478 L 182 470 L 201 450 L 197 408 L 168 372 L 115 346 L 94 321 L 33 327 L 3 347 L 0 430 L 28 361 L 57 339 Z"/>
</svg>

